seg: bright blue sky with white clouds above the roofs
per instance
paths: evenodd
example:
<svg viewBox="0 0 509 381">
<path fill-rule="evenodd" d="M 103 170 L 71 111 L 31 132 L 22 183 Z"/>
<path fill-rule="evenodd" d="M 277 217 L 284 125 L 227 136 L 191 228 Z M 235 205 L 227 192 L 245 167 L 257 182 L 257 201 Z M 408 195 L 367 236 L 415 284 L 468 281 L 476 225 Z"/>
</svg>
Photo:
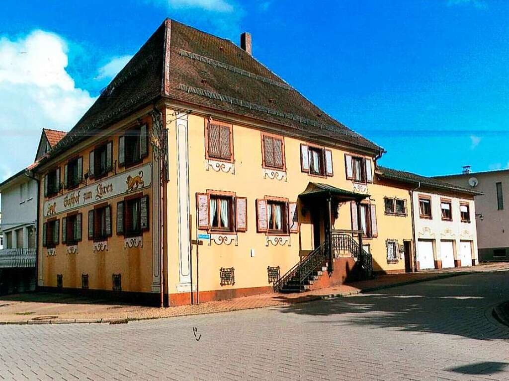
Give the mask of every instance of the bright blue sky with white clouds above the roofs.
<svg viewBox="0 0 509 381">
<path fill-rule="evenodd" d="M 0 5 L 0 181 L 69 130 L 165 17 L 238 43 L 424 175 L 509 167 L 509 2 L 124 0 Z M 25 51 L 26 50 L 26 51 Z M 39 72 L 38 72 L 39 70 Z"/>
</svg>

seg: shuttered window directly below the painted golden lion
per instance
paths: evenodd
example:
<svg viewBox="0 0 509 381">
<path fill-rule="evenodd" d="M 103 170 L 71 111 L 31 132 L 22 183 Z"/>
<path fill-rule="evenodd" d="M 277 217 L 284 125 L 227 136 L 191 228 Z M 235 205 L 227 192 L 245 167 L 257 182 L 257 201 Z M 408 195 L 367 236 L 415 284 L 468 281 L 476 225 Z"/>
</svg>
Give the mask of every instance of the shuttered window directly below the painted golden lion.
<svg viewBox="0 0 509 381">
<path fill-rule="evenodd" d="M 149 229 L 149 196 L 135 195 L 117 203 L 117 234 L 139 236 Z"/>
</svg>

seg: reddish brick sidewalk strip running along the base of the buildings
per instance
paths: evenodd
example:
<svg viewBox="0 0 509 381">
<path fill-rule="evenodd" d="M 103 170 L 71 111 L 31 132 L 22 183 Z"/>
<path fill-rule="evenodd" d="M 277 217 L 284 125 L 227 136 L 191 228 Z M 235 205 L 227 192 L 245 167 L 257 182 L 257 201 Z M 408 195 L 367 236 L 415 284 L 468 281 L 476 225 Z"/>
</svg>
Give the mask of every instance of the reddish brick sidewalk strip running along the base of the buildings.
<svg viewBox="0 0 509 381">
<path fill-rule="evenodd" d="M 107 323 L 182 315 L 281 306 L 322 298 L 348 296 L 394 285 L 425 281 L 472 272 L 509 269 L 509 263 L 491 263 L 473 268 L 427 271 L 416 274 L 378 276 L 372 280 L 343 284 L 300 294 L 261 294 L 251 297 L 171 308 L 116 305 L 110 301 L 77 298 L 66 294 L 20 294 L 0 297 L 0 324 L 5 323 Z"/>
</svg>

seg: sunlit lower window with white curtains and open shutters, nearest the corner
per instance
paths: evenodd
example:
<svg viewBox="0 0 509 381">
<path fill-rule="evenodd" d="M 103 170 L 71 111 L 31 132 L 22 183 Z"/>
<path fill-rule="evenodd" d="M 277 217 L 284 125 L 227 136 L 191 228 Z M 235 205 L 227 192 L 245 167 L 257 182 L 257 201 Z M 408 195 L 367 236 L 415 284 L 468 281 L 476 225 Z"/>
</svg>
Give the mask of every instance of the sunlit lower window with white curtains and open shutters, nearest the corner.
<svg viewBox="0 0 509 381">
<path fill-rule="evenodd" d="M 199 229 L 247 230 L 247 199 L 234 192 L 196 193 L 196 209 Z"/>
</svg>

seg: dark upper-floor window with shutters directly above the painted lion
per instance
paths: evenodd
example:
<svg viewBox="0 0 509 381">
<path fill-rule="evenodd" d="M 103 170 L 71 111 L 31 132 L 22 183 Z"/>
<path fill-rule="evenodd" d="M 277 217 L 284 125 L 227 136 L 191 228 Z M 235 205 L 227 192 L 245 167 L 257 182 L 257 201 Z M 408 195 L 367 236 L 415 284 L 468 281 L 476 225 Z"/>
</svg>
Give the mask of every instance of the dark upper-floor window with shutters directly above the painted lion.
<svg viewBox="0 0 509 381">
<path fill-rule="evenodd" d="M 149 155 L 147 125 L 132 128 L 119 138 L 119 165 L 129 167 Z"/>
</svg>

